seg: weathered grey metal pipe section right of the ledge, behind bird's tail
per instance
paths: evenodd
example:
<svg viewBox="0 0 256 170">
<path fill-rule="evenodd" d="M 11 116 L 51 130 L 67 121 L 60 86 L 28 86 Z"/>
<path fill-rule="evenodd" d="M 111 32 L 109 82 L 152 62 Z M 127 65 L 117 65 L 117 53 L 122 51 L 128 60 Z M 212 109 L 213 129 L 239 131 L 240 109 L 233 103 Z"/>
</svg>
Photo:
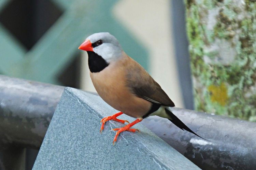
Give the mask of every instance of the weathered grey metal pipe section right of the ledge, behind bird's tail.
<svg viewBox="0 0 256 170">
<path fill-rule="evenodd" d="M 255 169 L 256 123 L 182 108 L 172 111 L 211 142 L 157 116 L 142 123 L 201 169 Z"/>
</svg>

